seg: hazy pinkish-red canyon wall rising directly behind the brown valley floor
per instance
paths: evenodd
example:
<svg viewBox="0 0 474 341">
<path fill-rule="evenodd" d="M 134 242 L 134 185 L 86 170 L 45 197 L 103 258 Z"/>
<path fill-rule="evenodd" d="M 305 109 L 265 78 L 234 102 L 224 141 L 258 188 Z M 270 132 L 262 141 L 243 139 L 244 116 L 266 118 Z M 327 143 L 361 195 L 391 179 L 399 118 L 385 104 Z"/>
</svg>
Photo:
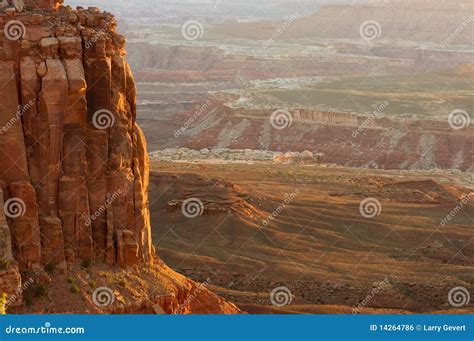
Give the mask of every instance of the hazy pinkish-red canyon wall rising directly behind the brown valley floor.
<svg viewBox="0 0 474 341">
<path fill-rule="evenodd" d="M 163 129 L 159 135 L 144 121 L 152 150 L 167 146 L 192 150 L 310 151 L 320 155 L 318 159 L 323 162 L 341 166 L 474 170 L 474 127 L 453 129 L 448 115 L 445 120 L 430 120 L 400 118 L 377 111 L 372 115 L 317 109 L 278 111 L 206 103 L 174 115 L 172 120 L 160 121 Z M 282 114 L 281 122 L 272 121 L 273 113 L 277 112 Z"/>
</svg>

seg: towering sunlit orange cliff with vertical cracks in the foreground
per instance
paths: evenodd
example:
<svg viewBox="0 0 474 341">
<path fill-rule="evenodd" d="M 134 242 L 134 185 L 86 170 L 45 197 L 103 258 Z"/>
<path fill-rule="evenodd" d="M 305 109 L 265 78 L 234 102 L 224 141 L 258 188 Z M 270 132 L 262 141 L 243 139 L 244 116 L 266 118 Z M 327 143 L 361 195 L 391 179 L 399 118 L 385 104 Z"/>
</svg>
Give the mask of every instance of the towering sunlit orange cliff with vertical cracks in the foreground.
<svg viewBox="0 0 474 341">
<path fill-rule="evenodd" d="M 0 291 L 77 261 L 151 263 L 146 142 L 112 14 L 0 9 Z M 5 202 L 5 204 L 3 204 Z"/>
</svg>

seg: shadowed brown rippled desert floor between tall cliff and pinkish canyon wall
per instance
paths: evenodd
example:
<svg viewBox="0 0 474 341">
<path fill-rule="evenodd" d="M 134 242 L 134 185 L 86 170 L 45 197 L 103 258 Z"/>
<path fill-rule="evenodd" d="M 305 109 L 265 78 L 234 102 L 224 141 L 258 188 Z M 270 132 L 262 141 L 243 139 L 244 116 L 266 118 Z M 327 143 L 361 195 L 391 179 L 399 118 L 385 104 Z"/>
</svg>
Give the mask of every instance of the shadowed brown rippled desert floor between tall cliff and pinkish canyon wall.
<svg viewBox="0 0 474 341">
<path fill-rule="evenodd" d="M 474 284 L 472 202 L 441 223 L 472 192 L 472 174 L 272 163 L 151 167 L 159 256 L 244 311 L 473 312 L 446 302 L 451 288 Z M 182 214 L 189 198 L 203 203 L 201 216 Z M 379 200 L 379 215 L 361 215 L 365 198 Z M 285 307 L 270 302 L 280 286 L 292 294 Z"/>
</svg>

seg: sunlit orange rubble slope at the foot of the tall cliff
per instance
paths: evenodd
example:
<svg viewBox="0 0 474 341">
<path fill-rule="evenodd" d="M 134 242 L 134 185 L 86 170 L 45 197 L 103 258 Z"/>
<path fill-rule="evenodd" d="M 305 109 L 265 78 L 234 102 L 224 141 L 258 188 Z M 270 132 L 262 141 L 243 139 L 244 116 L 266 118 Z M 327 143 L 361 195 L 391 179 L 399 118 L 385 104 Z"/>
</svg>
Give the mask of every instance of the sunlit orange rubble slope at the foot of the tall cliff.
<svg viewBox="0 0 474 341">
<path fill-rule="evenodd" d="M 54 270 L 54 281 L 45 291 L 38 290 L 44 287 L 44 280 L 31 272 L 25 277 L 33 278 L 27 282 L 31 284 L 25 293 L 26 304 L 11 307 L 9 313 L 240 314 L 235 305 L 208 290 L 209 283 L 193 282 L 159 259 L 152 266 L 127 269 L 97 264 L 89 268 L 76 265 L 68 274 Z"/>
</svg>

